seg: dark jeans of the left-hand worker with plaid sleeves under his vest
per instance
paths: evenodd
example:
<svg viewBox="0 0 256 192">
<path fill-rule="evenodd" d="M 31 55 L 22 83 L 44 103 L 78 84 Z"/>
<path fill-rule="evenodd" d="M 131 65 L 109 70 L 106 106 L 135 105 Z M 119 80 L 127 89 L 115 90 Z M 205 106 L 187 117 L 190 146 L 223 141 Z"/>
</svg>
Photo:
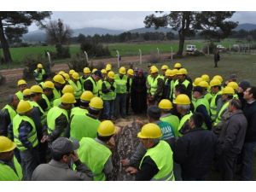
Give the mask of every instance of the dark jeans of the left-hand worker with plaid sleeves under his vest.
<svg viewBox="0 0 256 192">
<path fill-rule="evenodd" d="M 23 179 L 30 181 L 32 173 L 39 165 L 38 148 L 26 149 L 20 151 L 21 167 L 23 172 Z"/>
</svg>

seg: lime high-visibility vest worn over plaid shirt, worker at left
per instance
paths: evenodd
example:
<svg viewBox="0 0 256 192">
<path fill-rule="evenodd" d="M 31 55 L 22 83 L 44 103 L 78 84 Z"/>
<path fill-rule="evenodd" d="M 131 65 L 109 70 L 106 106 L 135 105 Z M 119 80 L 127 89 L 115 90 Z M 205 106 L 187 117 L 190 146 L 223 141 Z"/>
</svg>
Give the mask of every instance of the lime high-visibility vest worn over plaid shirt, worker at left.
<svg viewBox="0 0 256 192">
<path fill-rule="evenodd" d="M 14 125 L 13 129 L 14 129 L 15 143 L 17 145 L 17 148 L 19 148 L 20 151 L 24 151 L 27 149 L 20 142 L 20 138 L 19 138 L 20 123 L 23 120 L 28 122 L 32 126 L 32 131 L 28 134 L 27 140 L 30 143 L 32 143 L 33 148 L 38 146 L 38 136 L 37 136 L 37 130 L 36 130 L 36 125 L 35 125 L 34 121 L 25 115 L 16 114 L 14 121 L 13 121 L 13 125 Z"/>
</svg>

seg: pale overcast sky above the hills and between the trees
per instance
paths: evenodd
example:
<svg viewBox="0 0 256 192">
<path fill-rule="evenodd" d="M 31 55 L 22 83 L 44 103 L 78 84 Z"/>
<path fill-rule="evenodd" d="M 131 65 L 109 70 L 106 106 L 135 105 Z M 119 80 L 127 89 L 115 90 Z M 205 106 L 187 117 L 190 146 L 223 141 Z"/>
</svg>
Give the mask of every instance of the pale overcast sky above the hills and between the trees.
<svg viewBox="0 0 256 192">
<path fill-rule="evenodd" d="M 146 15 L 153 14 L 153 11 L 54 11 L 51 20 L 61 19 L 73 29 L 83 27 L 102 27 L 108 29 L 131 30 L 144 27 L 143 20 Z M 256 24 L 255 12 L 236 12 L 231 20 L 239 23 Z M 32 25 L 29 31 L 37 30 L 38 27 Z"/>
</svg>

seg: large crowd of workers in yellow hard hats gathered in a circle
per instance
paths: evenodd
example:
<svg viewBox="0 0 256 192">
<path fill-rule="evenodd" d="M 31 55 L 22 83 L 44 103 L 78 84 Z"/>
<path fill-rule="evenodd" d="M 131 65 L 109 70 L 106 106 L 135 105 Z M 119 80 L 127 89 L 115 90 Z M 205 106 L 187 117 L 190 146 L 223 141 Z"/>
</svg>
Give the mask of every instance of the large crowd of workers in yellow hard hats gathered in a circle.
<svg viewBox="0 0 256 192">
<path fill-rule="evenodd" d="M 181 63 L 159 69 L 84 67 L 49 77 L 42 64 L 0 113 L 0 180 L 109 180 L 116 119 L 147 114 L 140 143 L 121 160 L 136 180 L 253 180 L 256 87 L 205 73 L 194 81 Z M 237 176 L 236 176 L 237 173 Z"/>
</svg>

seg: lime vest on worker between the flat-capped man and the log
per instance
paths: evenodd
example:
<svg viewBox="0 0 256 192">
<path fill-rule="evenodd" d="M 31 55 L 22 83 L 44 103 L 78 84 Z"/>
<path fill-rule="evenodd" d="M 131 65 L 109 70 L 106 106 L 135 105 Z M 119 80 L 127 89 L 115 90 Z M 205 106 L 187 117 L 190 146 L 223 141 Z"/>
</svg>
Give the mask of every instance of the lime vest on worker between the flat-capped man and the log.
<svg viewBox="0 0 256 192">
<path fill-rule="evenodd" d="M 95 181 L 105 181 L 106 176 L 103 169 L 112 152 L 89 137 L 82 138 L 79 144 L 79 160 L 90 168 Z"/>
</svg>

